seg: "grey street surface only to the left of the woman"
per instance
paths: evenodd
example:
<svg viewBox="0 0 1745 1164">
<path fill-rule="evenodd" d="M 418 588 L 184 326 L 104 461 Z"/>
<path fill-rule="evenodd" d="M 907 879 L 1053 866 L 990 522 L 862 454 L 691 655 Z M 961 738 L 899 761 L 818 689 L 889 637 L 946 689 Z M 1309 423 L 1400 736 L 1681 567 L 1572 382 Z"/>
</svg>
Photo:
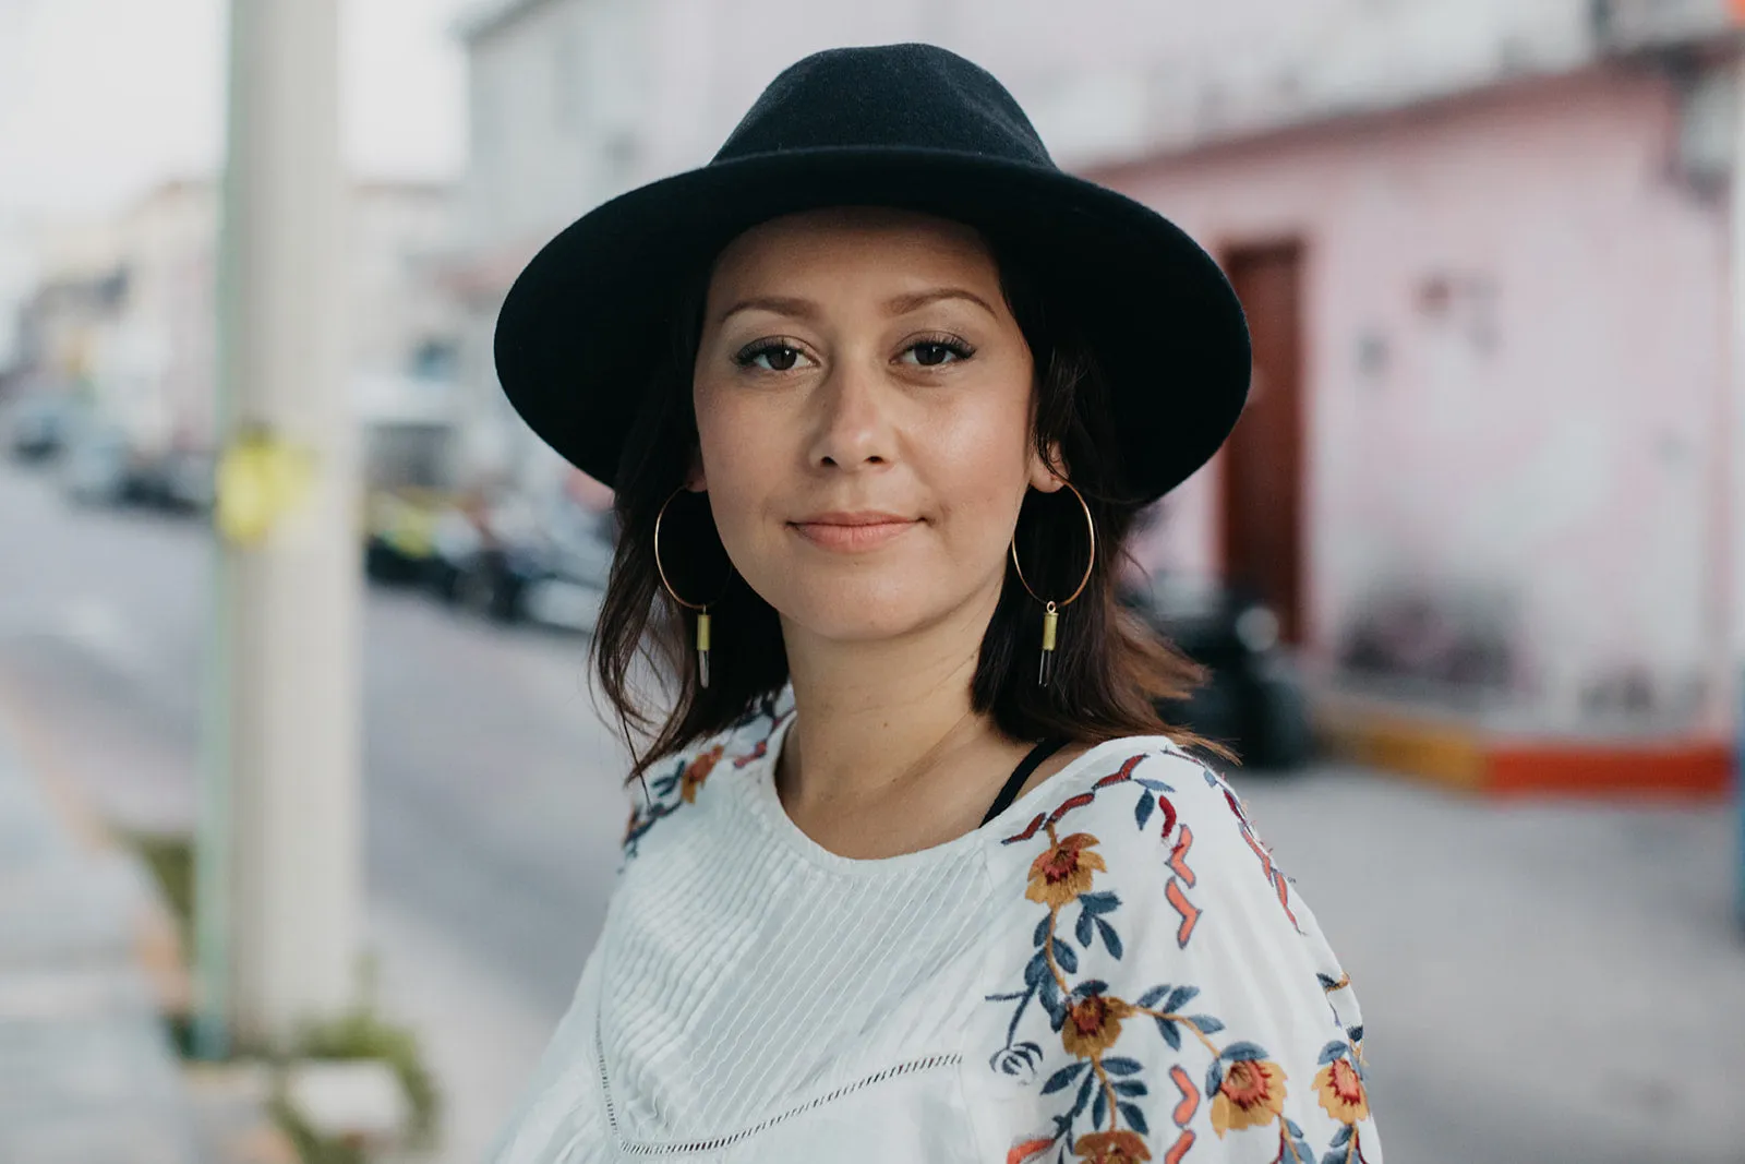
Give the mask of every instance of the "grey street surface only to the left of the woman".
<svg viewBox="0 0 1745 1164">
<path fill-rule="evenodd" d="M 187 831 L 204 527 L 82 510 L 7 466 L 0 593 L 0 698 L 35 750 L 113 824 Z M 583 686 L 586 639 L 373 593 L 361 649 L 368 946 L 384 1010 L 421 1031 L 454 1092 L 452 1159 L 471 1159 L 600 925 L 623 763 Z"/>
</svg>

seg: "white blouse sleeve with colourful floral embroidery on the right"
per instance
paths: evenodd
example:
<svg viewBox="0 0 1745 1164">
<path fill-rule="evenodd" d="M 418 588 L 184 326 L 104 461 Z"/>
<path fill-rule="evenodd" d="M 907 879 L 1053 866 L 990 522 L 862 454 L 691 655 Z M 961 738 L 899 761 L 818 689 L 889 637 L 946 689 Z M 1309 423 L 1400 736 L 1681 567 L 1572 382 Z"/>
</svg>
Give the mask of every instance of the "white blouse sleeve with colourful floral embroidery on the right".
<svg viewBox="0 0 1745 1164">
<path fill-rule="evenodd" d="M 1235 792 L 1173 747 L 1120 761 L 1005 838 L 1024 909 L 967 1065 L 989 1157 L 1380 1164 L 1351 981 Z"/>
</svg>

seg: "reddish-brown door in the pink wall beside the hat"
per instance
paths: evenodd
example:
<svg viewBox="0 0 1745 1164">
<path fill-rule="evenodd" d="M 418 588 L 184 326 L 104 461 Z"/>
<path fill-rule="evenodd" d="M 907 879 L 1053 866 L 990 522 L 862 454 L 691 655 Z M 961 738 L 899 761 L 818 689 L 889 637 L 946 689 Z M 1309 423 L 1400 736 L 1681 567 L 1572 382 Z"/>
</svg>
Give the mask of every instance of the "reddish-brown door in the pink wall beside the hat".
<svg viewBox="0 0 1745 1164">
<path fill-rule="evenodd" d="M 1227 270 L 1248 311 L 1255 380 L 1223 455 L 1227 579 L 1302 642 L 1302 265 L 1300 243 L 1239 248 Z"/>
</svg>

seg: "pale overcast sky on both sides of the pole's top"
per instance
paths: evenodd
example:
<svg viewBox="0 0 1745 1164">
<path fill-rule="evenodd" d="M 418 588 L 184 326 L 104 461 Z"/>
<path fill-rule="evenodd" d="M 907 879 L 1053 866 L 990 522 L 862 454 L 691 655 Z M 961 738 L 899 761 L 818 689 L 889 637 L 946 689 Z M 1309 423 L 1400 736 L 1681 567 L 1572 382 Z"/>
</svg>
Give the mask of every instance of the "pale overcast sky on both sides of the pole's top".
<svg viewBox="0 0 1745 1164">
<path fill-rule="evenodd" d="M 452 176 L 466 150 L 468 0 L 340 0 L 346 154 Z M 0 216 L 87 215 L 211 173 L 227 0 L 0 0 Z"/>
</svg>

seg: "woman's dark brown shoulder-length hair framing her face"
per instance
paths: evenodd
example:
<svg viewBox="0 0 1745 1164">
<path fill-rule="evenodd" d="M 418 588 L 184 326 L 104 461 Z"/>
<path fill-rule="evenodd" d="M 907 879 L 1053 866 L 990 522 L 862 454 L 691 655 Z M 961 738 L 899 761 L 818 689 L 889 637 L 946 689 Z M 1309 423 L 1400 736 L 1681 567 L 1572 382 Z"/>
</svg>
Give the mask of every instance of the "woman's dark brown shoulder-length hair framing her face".
<svg viewBox="0 0 1745 1164">
<path fill-rule="evenodd" d="M 1000 248 L 996 248 L 1000 255 Z M 1040 295 L 1021 264 L 1000 257 L 1000 283 L 1037 368 L 1035 440 L 1059 448 L 1068 480 L 1096 525 L 1096 565 L 1084 593 L 1059 616 L 1059 646 L 1047 686 L 1037 682 L 1042 607 L 1007 560 L 1005 586 L 982 635 L 970 702 L 1016 740 L 1064 736 L 1098 743 L 1124 735 L 1167 735 L 1211 747 L 1167 726 L 1157 705 L 1202 679 L 1199 665 L 1162 642 L 1117 595 L 1126 539 L 1141 504 L 1124 496 L 1108 386 L 1077 323 Z M 686 745 L 766 707 L 787 682 L 787 653 L 775 609 L 728 564 L 707 501 L 681 496 L 661 524 L 661 564 L 689 602 L 710 602 L 710 684 L 698 684 L 691 614 L 665 592 L 654 564 L 654 520 L 686 476 L 696 448 L 691 375 L 701 335 L 708 272 L 689 279 L 674 314 L 670 347 L 646 386 L 618 468 L 618 551 L 593 635 L 600 688 L 637 757 L 630 778 Z M 1044 597 L 1070 595 L 1085 569 L 1085 518 L 1071 490 L 1031 490 L 1017 520 L 1024 576 Z M 660 717 L 665 688 L 672 710 Z M 635 736 L 651 740 L 639 749 Z M 1213 749 L 1220 750 L 1222 749 Z"/>
</svg>

